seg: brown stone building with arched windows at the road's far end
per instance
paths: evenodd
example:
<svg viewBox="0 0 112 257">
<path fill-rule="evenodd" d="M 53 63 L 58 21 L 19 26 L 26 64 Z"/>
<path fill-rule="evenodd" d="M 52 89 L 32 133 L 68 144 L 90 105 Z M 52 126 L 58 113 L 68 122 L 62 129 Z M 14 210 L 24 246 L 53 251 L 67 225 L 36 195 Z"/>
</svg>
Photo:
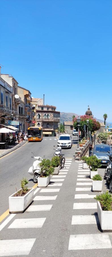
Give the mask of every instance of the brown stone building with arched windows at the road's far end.
<svg viewBox="0 0 112 257">
<path fill-rule="evenodd" d="M 60 123 L 60 112 L 53 105 L 38 105 L 36 122 L 37 127 L 43 127 L 43 136 L 55 136 Z"/>
</svg>

